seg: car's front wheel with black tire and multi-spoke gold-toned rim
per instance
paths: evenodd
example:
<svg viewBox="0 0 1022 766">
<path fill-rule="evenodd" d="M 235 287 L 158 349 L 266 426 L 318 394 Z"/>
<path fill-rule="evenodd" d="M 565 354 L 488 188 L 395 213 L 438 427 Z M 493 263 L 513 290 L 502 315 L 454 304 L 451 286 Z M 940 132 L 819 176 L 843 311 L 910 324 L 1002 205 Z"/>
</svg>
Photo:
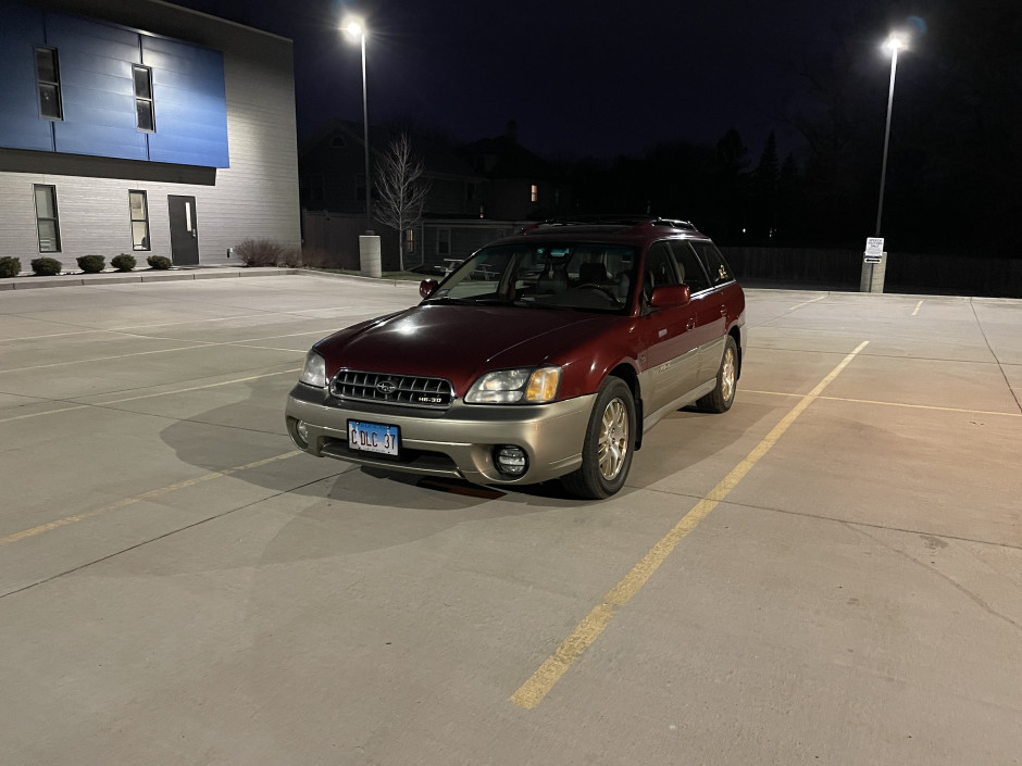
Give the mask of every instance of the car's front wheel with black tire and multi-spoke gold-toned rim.
<svg viewBox="0 0 1022 766">
<path fill-rule="evenodd" d="M 601 500 L 624 487 L 635 451 L 635 428 L 632 389 L 621 378 L 607 378 L 589 414 L 582 466 L 561 479 L 564 488 L 586 500 Z"/>
</svg>

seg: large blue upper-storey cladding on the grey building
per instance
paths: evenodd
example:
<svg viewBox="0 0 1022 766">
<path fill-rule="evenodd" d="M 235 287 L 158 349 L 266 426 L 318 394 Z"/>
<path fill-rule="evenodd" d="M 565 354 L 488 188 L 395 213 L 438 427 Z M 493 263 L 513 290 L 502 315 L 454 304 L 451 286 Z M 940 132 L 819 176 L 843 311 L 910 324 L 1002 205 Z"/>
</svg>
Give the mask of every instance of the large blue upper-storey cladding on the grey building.
<svg viewBox="0 0 1022 766">
<path fill-rule="evenodd" d="M 39 113 L 35 46 L 58 51 L 63 120 Z M 137 126 L 133 64 L 152 68 L 154 133 Z M 2 2 L 0 72 L 0 147 L 229 166 L 220 51 Z"/>
</svg>

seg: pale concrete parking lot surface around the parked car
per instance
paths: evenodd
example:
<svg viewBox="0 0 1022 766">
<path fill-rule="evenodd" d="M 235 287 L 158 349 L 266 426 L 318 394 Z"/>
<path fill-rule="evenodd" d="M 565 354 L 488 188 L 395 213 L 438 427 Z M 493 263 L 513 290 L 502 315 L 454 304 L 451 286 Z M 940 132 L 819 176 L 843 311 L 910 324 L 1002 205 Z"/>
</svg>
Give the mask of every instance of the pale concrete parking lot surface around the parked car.
<svg viewBox="0 0 1022 766">
<path fill-rule="evenodd" d="M 0 762 L 1022 763 L 1022 301 L 748 290 L 586 503 L 291 444 L 416 287 L 0 292 Z"/>
</svg>

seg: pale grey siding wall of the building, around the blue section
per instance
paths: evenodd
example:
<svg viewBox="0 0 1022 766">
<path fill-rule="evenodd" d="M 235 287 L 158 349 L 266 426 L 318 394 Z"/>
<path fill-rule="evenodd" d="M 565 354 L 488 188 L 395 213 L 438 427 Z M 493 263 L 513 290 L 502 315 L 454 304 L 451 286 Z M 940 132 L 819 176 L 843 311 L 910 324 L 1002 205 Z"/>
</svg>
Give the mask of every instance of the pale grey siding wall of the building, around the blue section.
<svg viewBox="0 0 1022 766">
<path fill-rule="evenodd" d="M 0 0 L 2 2 L 4 0 Z M 167 196 L 196 198 L 199 262 L 232 265 L 244 239 L 301 241 L 290 40 L 149 0 L 62 0 L 48 10 L 119 23 L 223 52 L 229 167 L 0 149 L 0 256 L 40 256 L 33 186 L 57 188 L 61 252 L 171 256 Z M 159 130 L 159 125 L 158 125 Z M 150 251 L 133 251 L 128 190 L 148 196 Z"/>
</svg>

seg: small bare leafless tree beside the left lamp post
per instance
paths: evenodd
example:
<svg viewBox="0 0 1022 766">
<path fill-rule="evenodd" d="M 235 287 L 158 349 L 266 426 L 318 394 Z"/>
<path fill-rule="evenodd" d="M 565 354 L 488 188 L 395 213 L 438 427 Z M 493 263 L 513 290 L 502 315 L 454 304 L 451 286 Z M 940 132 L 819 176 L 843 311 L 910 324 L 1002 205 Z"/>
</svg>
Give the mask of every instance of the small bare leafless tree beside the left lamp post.
<svg viewBox="0 0 1022 766">
<path fill-rule="evenodd" d="M 376 163 L 376 208 L 374 217 L 398 233 L 400 268 L 404 271 L 404 233 L 422 221 L 429 193 L 421 159 L 412 156 L 407 133 L 390 141 L 390 148 Z"/>
</svg>

